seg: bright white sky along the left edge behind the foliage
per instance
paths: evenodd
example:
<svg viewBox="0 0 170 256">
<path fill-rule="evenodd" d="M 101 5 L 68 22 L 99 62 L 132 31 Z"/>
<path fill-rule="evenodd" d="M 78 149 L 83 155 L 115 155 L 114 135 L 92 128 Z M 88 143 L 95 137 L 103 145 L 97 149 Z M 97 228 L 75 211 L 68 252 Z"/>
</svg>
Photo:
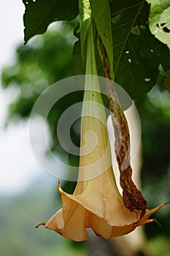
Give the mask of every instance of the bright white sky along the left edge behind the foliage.
<svg viewBox="0 0 170 256">
<path fill-rule="evenodd" d="M 24 10 L 21 0 L 0 1 L 0 71 L 15 61 L 15 48 L 23 42 Z M 31 153 L 28 122 L 20 121 L 3 128 L 7 104 L 11 99 L 12 95 L 0 86 L 0 195 L 18 194 L 28 187 L 33 178 L 39 174 L 46 175 Z"/>
</svg>

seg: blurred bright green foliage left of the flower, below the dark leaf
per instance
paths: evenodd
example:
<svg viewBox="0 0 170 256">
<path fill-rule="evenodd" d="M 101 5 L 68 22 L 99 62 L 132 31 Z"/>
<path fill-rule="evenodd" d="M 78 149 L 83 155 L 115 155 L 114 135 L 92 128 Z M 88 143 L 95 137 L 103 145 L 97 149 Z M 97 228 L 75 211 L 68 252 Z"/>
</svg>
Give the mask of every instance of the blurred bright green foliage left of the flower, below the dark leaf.
<svg viewBox="0 0 170 256">
<path fill-rule="evenodd" d="M 68 28 L 61 34 L 64 27 L 61 26 L 60 32 L 55 29 L 37 37 L 26 46 L 20 45 L 15 64 L 4 68 L 2 86 L 19 89 L 18 98 L 9 106 L 9 116 L 28 117 L 37 97 L 47 86 L 72 75 L 74 38 L 65 37 Z"/>
</svg>

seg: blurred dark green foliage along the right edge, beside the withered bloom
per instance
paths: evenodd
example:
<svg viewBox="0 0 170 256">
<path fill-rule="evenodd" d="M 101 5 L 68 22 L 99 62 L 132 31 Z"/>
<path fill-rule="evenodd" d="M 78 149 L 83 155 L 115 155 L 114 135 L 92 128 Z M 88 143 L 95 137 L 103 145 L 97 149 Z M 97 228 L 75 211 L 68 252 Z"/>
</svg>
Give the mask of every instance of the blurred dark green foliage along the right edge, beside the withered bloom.
<svg viewBox="0 0 170 256">
<path fill-rule="evenodd" d="M 142 186 L 150 207 L 170 200 L 170 94 L 158 86 L 136 100 L 142 124 Z M 155 214 L 162 227 L 145 226 L 148 236 L 170 237 L 169 206 Z"/>
</svg>

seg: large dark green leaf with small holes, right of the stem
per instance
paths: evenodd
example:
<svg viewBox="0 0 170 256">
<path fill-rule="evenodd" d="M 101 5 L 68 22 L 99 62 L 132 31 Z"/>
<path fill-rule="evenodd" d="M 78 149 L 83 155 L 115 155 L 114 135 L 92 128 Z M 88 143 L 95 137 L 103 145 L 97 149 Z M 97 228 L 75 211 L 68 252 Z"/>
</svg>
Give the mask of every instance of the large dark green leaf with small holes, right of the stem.
<svg viewBox="0 0 170 256">
<path fill-rule="evenodd" d="M 150 32 L 150 5 L 146 1 L 110 1 L 115 82 L 141 97 L 155 85 L 158 67 L 170 67 L 169 48 Z"/>
</svg>

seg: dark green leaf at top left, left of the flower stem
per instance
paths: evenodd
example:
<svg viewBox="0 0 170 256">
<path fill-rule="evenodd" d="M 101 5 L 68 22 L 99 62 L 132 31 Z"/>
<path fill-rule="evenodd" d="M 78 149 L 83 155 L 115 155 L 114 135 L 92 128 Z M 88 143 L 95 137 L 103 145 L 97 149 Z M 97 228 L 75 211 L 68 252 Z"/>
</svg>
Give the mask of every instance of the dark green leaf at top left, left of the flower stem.
<svg viewBox="0 0 170 256">
<path fill-rule="evenodd" d="M 77 0 L 23 0 L 23 4 L 25 44 L 36 34 L 44 33 L 53 21 L 72 20 L 79 12 Z"/>
</svg>

